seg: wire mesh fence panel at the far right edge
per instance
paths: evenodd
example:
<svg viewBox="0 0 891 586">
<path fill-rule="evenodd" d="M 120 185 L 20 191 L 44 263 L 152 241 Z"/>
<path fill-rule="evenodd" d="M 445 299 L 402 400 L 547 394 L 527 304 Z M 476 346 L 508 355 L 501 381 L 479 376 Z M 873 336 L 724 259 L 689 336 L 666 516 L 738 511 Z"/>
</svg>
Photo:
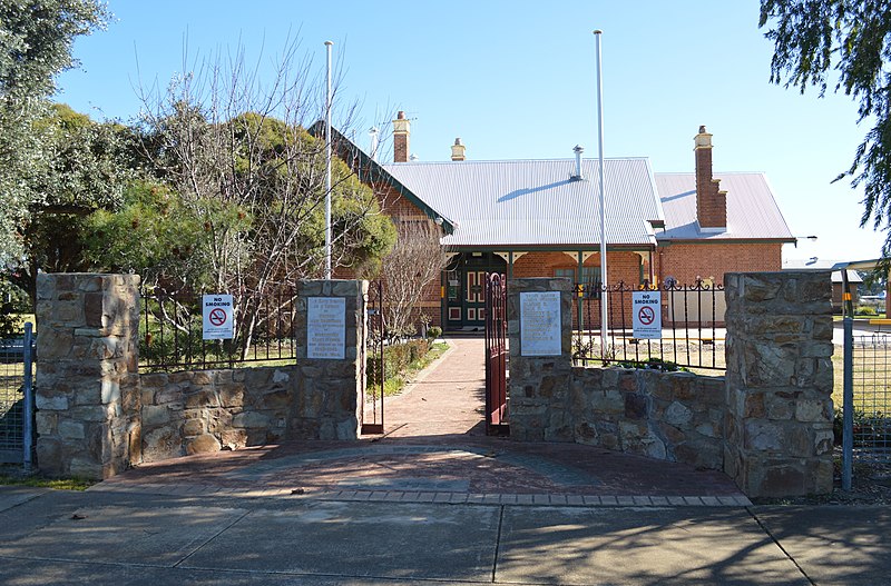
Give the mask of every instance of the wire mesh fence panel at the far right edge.
<svg viewBox="0 0 891 586">
<path fill-rule="evenodd" d="M 891 464 L 891 335 L 852 336 L 852 458 Z"/>
</svg>

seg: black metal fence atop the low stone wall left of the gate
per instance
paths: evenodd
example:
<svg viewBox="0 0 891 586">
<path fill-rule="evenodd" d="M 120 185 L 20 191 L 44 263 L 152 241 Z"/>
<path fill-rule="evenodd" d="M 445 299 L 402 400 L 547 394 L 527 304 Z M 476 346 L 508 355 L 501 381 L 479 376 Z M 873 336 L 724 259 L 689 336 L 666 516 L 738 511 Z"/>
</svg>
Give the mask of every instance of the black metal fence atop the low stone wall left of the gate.
<svg viewBox="0 0 891 586">
<path fill-rule="evenodd" d="M 141 291 L 139 370 L 233 368 L 296 358 L 296 291 L 282 287 L 260 299 L 233 296 L 233 339 L 204 339 L 200 294 Z"/>
</svg>

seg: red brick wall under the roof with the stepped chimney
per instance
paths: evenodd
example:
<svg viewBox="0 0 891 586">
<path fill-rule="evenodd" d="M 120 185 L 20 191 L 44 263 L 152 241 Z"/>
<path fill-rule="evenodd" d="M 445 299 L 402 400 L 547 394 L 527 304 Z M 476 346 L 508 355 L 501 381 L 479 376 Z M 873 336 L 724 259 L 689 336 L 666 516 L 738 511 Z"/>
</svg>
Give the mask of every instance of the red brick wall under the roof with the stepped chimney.
<svg viewBox="0 0 891 586">
<path fill-rule="evenodd" d="M 724 284 L 725 272 L 781 270 L 781 244 L 715 242 L 669 245 L 659 248 L 659 277 L 672 276 L 681 285 L 693 285 L 696 277 Z"/>
</svg>

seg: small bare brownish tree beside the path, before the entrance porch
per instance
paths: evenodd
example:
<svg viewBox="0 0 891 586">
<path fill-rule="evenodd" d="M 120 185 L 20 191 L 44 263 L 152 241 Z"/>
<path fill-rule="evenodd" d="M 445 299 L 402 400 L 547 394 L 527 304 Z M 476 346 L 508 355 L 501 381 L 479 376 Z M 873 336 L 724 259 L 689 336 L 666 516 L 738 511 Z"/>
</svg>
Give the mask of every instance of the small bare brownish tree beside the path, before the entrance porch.
<svg viewBox="0 0 891 586">
<path fill-rule="evenodd" d="M 441 230 L 432 221 L 404 221 L 396 227 L 396 244 L 383 259 L 384 320 L 391 336 L 418 330 L 419 301 L 449 260 L 440 244 Z"/>
</svg>

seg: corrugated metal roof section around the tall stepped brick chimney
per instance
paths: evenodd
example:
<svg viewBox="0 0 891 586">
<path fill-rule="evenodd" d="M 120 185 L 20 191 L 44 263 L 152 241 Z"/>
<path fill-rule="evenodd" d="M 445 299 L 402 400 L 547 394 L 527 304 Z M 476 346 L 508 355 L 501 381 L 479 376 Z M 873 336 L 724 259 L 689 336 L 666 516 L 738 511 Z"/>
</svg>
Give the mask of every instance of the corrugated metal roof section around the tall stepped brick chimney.
<svg viewBox="0 0 891 586">
<path fill-rule="evenodd" d="M 696 176 L 655 173 L 665 211 L 659 240 L 792 239 L 764 173 L 715 173 L 727 191 L 727 230 L 703 232 L 696 221 Z"/>
</svg>

